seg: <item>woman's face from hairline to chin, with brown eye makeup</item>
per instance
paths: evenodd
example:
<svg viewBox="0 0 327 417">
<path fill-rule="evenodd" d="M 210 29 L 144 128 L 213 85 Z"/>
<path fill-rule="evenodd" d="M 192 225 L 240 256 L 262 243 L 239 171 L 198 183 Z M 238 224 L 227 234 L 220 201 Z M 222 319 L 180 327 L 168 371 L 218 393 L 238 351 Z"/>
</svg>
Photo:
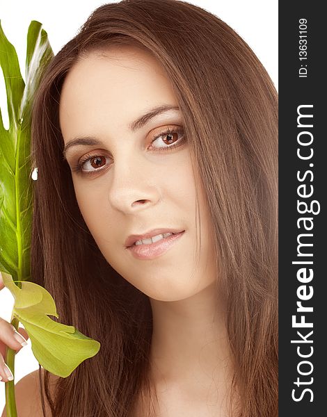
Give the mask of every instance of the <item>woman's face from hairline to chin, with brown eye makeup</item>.
<svg viewBox="0 0 327 417">
<path fill-rule="evenodd" d="M 171 108 L 140 119 L 158 106 Z M 196 262 L 196 180 L 177 106 L 157 60 L 127 45 L 79 60 L 60 101 L 65 158 L 90 233 L 122 277 L 162 301 L 191 297 L 216 279 L 212 224 L 201 189 Z M 154 229 L 184 233 L 165 235 L 151 247 L 135 245 L 146 252 L 143 257 L 126 247 L 131 234 Z"/>
</svg>

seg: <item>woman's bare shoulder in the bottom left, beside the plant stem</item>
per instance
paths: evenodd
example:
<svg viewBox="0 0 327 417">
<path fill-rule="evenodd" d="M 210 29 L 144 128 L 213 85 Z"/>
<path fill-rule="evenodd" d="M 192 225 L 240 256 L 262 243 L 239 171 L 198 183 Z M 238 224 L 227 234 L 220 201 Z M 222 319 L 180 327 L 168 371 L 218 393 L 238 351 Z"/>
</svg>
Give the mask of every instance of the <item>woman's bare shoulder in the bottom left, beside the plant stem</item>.
<svg viewBox="0 0 327 417">
<path fill-rule="evenodd" d="M 42 368 L 41 372 L 43 375 L 45 370 Z M 50 374 L 49 386 L 51 396 L 54 394 L 54 386 L 57 379 L 56 375 Z M 25 375 L 15 384 L 15 400 L 18 416 L 43 417 L 38 369 Z M 45 401 L 45 415 L 51 416 L 47 401 Z M 6 411 L 3 410 L 1 417 L 6 416 Z"/>
</svg>

